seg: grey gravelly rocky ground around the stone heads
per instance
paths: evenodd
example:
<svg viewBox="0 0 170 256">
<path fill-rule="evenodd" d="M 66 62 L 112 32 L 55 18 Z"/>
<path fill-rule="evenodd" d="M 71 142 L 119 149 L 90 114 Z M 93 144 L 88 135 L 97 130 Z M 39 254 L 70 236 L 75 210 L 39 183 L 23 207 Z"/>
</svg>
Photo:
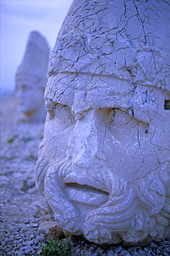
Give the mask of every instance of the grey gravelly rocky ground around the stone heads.
<svg viewBox="0 0 170 256">
<path fill-rule="evenodd" d="M 1 98 L 1 256 L 39 255 L 48 242 L 50 232 L 40 224 L 51 222 L 39 207 L 34 179 L 43 131 L 44 124 L 23 122 L 13 95 Z M 169 256 L 170 238 L 145 246 L 106 247 L 71 237 L 70 248 L 72 256 Z"/>
</svg>

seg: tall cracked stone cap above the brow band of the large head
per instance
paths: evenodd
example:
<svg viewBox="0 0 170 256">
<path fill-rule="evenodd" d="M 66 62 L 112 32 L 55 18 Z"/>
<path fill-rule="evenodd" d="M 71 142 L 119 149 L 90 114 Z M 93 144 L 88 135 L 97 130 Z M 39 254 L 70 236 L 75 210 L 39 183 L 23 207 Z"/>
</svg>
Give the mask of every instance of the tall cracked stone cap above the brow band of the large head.
<svg viewBox="0 0 170 256">
<path fill-rule="evenodd" d="M 149 2 L 138 10 L 136 4 L 73 0 L 51 53 L 49 72 L 117 77 L 170 89 L 170 7 L 161 1 L 161 8 L 158 2 L 153 8 Z M 146 10 L 149 15 L 143 21 Z"/>
</svg>

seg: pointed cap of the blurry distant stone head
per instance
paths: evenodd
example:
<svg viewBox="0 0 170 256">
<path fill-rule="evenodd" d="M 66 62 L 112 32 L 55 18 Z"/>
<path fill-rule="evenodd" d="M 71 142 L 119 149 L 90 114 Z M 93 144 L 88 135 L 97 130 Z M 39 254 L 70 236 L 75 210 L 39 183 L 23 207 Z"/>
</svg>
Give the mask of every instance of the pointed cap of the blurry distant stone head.
<svg viewBox="0 0 170 256">
<path fill-rule="evenodd" d="M 16 79 L 31 77 L 35 81 L 44 81 L 43 86 L 46 86 L 49 52 L 46 39 L 39 32 L 32 31 L 28 37 L 23 60 L 17 69 Z"/>
</svg>

